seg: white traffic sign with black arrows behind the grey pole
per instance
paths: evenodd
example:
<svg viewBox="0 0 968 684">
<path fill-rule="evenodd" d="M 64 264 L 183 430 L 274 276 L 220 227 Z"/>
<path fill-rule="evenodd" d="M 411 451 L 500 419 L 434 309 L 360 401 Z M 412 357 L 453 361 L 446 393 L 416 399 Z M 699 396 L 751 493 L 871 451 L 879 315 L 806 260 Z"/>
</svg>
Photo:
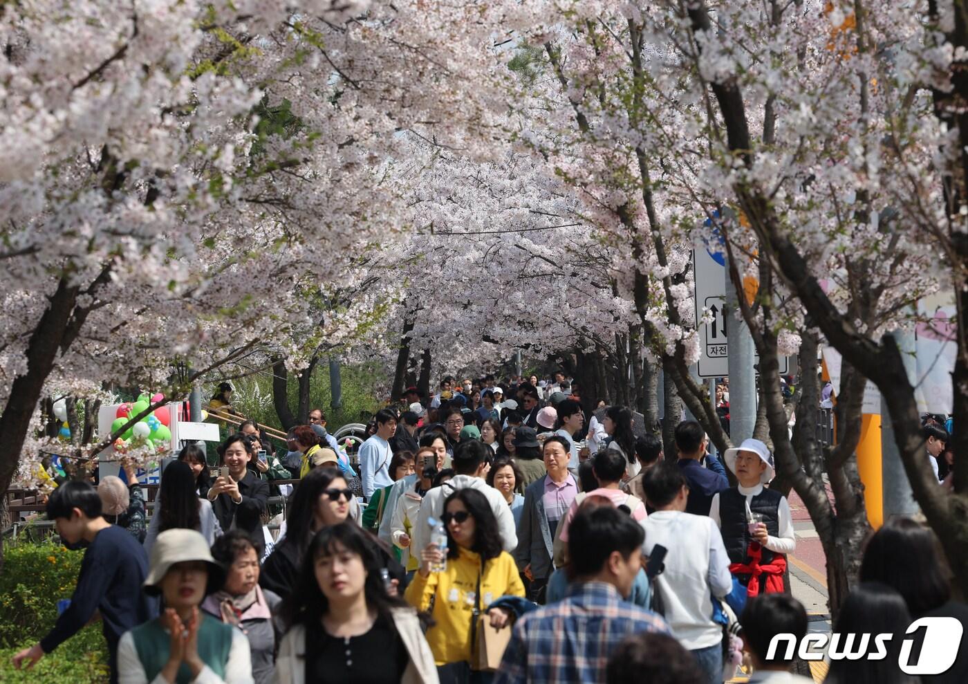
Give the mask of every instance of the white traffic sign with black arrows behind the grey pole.
<svg viewBox="0 0 968 684">
<path fill-rule="evenodd" d="M 717 239 L 718 234 L 713 235 Z M 726 330 L 730 316 L 724 312 L 726 304 L 726 267 L 719 245 L 700 243 L 692 251 L 692 272 L 696 283 L 696 326 L 699 328 L 699 362 L 696 364 L 700 378 L 729 377 L 729 345 Z M 700 325 L 703 311 L 709 311 L 711 319 Z M 789 372 L 789 359 L 780 357 L 780 375 Z"/>
</svg>

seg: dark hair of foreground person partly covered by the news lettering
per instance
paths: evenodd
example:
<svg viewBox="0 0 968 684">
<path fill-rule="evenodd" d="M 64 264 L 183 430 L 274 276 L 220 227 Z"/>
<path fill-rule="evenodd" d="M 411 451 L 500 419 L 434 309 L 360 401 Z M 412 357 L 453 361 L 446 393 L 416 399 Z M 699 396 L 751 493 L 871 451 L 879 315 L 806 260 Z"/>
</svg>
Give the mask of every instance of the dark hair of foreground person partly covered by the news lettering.
<svg viewBox="0 0 968 684">
<path fill-rule="evenodd" d="M 914 684 L 919 677 L 903 674 L 897 667 L 901 637 L 911 624 L 904 598 L 881 582 L 861 582 L 840 606 L 833 634 L 891 634 L 888 657 L 879 661 L 834 660 L 825 682 L 831 684 Z M 840 644 L 843 648 L 843 644 Z"/>
</svg>

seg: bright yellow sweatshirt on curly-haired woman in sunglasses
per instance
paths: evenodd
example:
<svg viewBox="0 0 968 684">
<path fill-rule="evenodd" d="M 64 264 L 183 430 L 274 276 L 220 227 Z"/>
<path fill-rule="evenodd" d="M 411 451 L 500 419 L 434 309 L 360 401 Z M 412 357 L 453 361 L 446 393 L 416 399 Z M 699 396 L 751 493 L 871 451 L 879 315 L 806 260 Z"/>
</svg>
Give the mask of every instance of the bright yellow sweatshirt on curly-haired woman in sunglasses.
<svg viewBox="0 0 968 684">
<path fill-rule="evenodd" d="M 437 624 L 427 631 L 427 641 L 438 666 L 470 661 L 470 620 L 475 604 L 477 577 L 481 578 L 481 612 L 506 595 L 524 596 L 525 585 L 518 575 L 518 566 L 507 551 L 501 551 L 484 565 L 481 557 L 466 548 L 457 558 L 447 559 L 447 570 L 424 577 L 419 571 L 413 575 L 405 597 L 418 610 L 430 607 Z"/>
</svg>

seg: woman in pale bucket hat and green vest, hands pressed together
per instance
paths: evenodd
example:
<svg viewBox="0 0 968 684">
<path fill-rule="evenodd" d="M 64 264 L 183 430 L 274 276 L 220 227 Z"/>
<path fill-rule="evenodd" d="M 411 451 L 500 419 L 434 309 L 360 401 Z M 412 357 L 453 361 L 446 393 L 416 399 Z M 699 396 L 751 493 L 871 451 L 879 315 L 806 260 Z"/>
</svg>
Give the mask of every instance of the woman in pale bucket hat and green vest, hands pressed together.
<svg viewBox="0 0 968 684">
<path fill-rule="evenodd" d="M 121 637 L 119 684 L 252 684 L 248 639 L 198 609 L 224 575 L 200 533 L 171 529 L 158 535 L 143 586 L 163 597 L 165 610 Z"/>
</svg>

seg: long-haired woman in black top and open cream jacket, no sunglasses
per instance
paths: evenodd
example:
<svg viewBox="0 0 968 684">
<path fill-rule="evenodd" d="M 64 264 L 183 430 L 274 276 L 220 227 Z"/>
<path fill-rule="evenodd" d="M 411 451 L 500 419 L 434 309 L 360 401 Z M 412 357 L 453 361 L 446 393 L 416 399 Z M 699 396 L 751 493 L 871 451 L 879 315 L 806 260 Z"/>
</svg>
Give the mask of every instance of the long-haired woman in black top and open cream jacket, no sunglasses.
<svg viewBox="0 0 968 684">
<path fill-rule="evenodd" d="M 420 620 L 387 593 L 381 570 L 374 538 L 353 523 L 317 533 L 283 605 L 274 682 L 437 684 Z"/>
</svg>

